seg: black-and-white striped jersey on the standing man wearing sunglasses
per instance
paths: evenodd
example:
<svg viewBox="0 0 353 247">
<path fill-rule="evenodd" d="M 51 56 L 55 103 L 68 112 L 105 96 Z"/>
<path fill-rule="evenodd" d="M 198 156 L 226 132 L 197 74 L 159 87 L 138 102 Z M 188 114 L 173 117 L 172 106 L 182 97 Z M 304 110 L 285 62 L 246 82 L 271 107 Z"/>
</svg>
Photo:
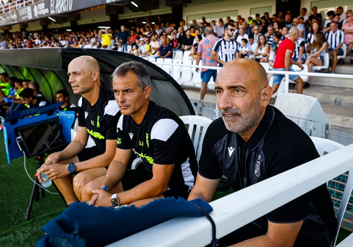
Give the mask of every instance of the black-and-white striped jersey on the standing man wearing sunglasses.
<svg viewBox="0 0 353 247">
<path fill-rule="evenodd" d="M 231 41 L 226 41 L 224 38 L 218 40 L 213 49 L 218 53 L 218 58 L 222 61 L 229 62 L 235 59 L 235 53 L 239 52 L 238 43 L 234 38 Z M 223 65 L 218 63 L 218 67 L 222 67 Z"/>
</svg>

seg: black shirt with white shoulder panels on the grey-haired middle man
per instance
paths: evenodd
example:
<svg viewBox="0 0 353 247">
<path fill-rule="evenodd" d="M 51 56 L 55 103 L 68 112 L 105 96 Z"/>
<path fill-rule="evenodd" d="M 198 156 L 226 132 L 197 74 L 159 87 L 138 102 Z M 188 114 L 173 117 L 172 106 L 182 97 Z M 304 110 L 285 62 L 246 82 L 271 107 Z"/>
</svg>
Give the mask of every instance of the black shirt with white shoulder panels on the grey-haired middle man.
<svg viewBox="0 0 353 247">
<path fill-rule="evenodd" d="M 133 148 L 142 159 L 148 179 L 153 176 L 153 163 L 175 164 L 168 187 L 194 186 L 198 169 L 195 150 L 185 124 L 172 111 L 150 101 L 140 124 L 130 115 L 121 115 L 116 131 L 116 147 Z"/>
</svg>

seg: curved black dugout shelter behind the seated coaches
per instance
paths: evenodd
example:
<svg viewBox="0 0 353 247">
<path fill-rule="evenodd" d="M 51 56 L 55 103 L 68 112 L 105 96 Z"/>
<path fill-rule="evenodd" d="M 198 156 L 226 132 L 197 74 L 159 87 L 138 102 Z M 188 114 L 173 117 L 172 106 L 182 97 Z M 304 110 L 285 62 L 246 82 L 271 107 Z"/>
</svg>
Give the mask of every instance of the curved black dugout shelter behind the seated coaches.
<svg viewBox="0 0 353 247">
<path fill-rule="evenodd" d="M 172 110 L 178 116 L 195 115 L 189 98 L 179 84 L 160 67 L 137 56 L 104 49 L 82 48 L 31 48 L 6 49 L 0 51 L 0 73 L 7 72 L 10 77 L 36 81 L 40 91 L 49 103 L 56 102 L 56 92 L 66 89 L 70 102 L 77 105 L 80 95 L 72 92 L 68 82 L 67 66 L 79 56 L 94 57 L 100 67 L 100 80 L 103 86 L 112 89 L 110 75 L 124 62 L 142 63 L 150 74 L 150 99 L 156 104 Z"/>
</svg>

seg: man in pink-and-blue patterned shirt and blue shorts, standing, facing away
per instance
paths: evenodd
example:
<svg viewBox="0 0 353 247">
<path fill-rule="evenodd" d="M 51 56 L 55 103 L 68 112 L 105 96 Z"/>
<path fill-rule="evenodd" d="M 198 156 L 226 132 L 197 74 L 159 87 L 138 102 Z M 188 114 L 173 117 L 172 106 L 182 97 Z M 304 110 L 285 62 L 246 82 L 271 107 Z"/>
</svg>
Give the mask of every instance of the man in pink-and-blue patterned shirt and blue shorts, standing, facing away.
<svg viewBox="0 0 353 247">
<path fill-rule="evenodd" d="M 203 66 L 214 66 L 217 67 L 217 62 L 211 58 L 212 49 L 219 40 L 215 36 L 212 26 L 208 26 L 206 28 L 206 38 L 202 39 L 199 43 L 196 53 L 196 64 L 199 64 L 199 61 L 202 57 L 202 65 Z M 196 68 L 196 72 L 198 72 L 198 68 Z M 211 77 L 213 77 L 213 81 L 216 81 L 217 70 L 208 70 L 202 69 L 201 70 L 201 89 L 200 89 L 200 100 L 203 100 L 206 94 L 207 83 L 210 81 Z M 197 103 L 194 103 L 197 106 Z"/>
</svg>

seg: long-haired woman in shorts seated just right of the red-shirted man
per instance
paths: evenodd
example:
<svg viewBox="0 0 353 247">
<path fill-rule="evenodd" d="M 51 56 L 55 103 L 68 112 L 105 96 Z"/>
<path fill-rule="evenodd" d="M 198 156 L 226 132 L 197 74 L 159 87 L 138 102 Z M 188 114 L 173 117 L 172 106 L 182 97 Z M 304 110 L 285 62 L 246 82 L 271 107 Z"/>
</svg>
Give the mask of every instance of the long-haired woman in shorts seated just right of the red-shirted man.
<svg viewBox="0 0 353 247">
<path fill-rule="evenodd" d="M 327 42 L 323 32 L 317 32 L 314 36 L 314 42 L 311 45 L 310 56 L 308 56 L 305 64 L 308 66 L 308 71 L 312 71 L 313 66 L 322 66 L 324 64 L 324 56 L 327 48 Z M 303 88 L 310 88 L 310 77 Z"/>
</svg>

